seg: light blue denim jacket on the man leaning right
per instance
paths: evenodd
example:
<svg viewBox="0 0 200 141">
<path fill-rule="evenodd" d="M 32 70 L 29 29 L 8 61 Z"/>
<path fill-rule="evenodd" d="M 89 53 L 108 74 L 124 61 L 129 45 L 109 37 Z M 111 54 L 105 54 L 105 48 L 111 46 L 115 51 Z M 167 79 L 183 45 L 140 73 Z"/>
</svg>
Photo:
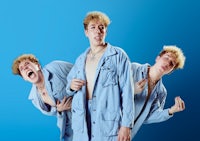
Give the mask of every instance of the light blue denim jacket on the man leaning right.
<svg viewBox="0 0 200 141">
<path fill-rule="evenodd" d="M 147 71 L 149 64 L 139 64 L 132 63 L 132 74 L 134 82 L 138 82 L 144 78 L 147 78 Z M 140 94 L 134 96 L 135 99 L 135 119 L 138 117 L 142 107 L 145 103 L 146 96 L 148 93 L 148 84 L 145 85 L 144 90 Z M 134 123 L 132 129 L 132 137 L 136 135 L 142 124 L 157 123 L 168 120 L 170 117 L 168 110 L 163 109 L 165 105 L 165 100 L 167 97 L 167 91 L 165 86 L 160 79 L 154 89 L 151 92 L 151 96 L 148 100 L 148 103 L 145 107 L 143 113 L 139 116 L 138 120 Z M 133 139 L 132 139 L 133 141 Z"/>
</svg>

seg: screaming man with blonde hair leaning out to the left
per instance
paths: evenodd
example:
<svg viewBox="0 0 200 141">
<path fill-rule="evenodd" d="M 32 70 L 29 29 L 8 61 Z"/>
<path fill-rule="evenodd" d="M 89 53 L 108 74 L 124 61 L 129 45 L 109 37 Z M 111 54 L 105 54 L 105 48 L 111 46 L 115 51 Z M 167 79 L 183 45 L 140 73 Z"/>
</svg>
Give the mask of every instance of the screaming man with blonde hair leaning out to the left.
<svg viewBox="0 0 200 141">
<path fill-rule="evenodd" d="M 71 98 L 66 98 L 67 75 L 72 64 L 53 61 L 44 68 L 33 54 L 23 54 L 16 58 L 12 72 L 32 83 L 29 100 L 45 115 L 57 116 L 60 140 L 72 141 Z"/>
</svg>

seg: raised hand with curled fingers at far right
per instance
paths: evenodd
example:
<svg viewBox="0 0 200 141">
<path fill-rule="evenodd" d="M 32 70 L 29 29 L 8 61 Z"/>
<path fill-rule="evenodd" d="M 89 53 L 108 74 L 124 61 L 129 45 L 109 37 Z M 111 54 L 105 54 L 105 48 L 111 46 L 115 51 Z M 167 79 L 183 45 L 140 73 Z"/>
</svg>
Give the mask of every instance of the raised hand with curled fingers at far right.
<svg viewBox="0 0 200 141">
<path fill-rule="evenodd" d="M 183 111 L 185 109 L 185 103 L 180 96 L 175 97 L 175 104 L 169 109 L 169 114 L 173 115 L 176 112 Z"/>
</svg>

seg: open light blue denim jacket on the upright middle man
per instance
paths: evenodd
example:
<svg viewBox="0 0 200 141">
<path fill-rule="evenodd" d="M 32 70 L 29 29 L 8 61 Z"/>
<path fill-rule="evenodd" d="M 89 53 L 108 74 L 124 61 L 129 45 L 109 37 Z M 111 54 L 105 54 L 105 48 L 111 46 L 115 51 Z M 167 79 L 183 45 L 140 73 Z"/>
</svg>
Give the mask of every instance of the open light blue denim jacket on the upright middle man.
<svg viewBox="0 0 200 141">
<path fill-rule="evenodd" d="M 86 86 L 71 91 L 73 78 L 86 80 L 85 61 L 88 48 L 78 57 L 68 75 L 67 94 L 74 95 L 72 101 L 73 141 L 88 141 L 86 123 Z M 133 126 L 134 94 L 131 78 L 131 63 L 126 53 L 110 44 L 96 69 L 92 93 L 92 141 L 117 140 L 121 126 Z"/>
</svg>

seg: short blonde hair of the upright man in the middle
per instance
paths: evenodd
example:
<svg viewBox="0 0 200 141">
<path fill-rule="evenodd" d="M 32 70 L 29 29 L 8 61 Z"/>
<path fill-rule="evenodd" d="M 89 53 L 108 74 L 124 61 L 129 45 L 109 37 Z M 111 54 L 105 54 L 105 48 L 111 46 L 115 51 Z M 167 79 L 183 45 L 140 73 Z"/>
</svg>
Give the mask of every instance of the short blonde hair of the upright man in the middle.
<svg viewBox="0 0 200 141">
<path fill-rule="evenodd" d="M 88 12 L 86 17 L 84 18 L 83 25 L 85 30 L 87 29 L 88 24 L 92 20 L 98 20 L 102 22 L 105 27 L 107 27 L 110 24 L 110 19 L 105 13 L 100 11 L 92 11 Z"/>
</svg>

